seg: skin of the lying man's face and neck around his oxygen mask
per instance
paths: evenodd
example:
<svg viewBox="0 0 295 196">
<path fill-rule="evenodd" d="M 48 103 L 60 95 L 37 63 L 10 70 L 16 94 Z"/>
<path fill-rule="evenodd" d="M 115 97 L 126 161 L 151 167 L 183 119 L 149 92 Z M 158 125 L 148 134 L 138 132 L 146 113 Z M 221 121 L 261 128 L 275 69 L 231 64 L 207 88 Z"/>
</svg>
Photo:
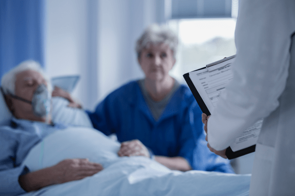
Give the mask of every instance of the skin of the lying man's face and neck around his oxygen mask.
<svg viewBox="0 0 295 196">
<path fill-rule="evenodd" d="M 31 101 L 35 90 L 40 84 L 47 86 L 47 82 L 42 74 L 33 70 L 18 73 L 15 80 L 15 95 Z M 46 120 L 46 117 L 41 118 L 34 115 L 31 104 L 15 98 L 11 98 L 11 110 L 17 119 L 42 122 Z"/>
</svg>

